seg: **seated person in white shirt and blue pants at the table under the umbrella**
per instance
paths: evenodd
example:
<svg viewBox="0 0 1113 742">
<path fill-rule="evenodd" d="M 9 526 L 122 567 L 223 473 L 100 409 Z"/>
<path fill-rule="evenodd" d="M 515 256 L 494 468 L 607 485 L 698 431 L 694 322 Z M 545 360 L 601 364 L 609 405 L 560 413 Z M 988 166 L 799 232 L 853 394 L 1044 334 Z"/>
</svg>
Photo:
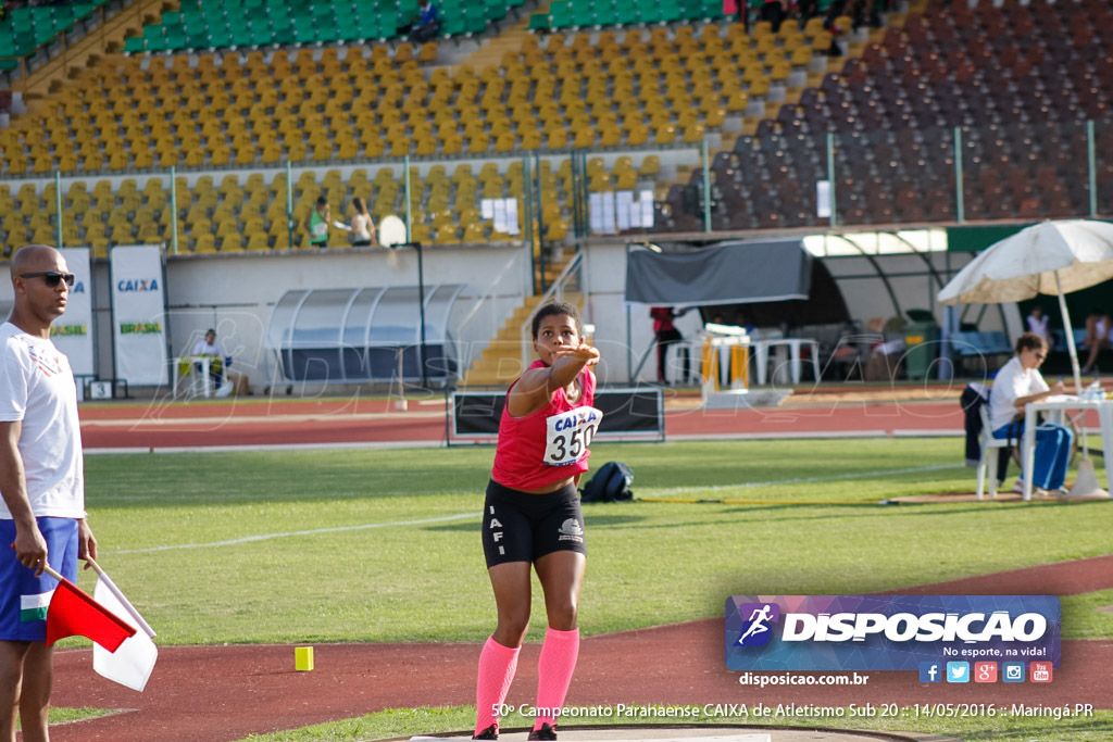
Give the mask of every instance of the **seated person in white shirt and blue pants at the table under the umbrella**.
<svg viewBox="0 0 1113 742">
<path fill-rule="evenodd" d="M 1063 394 L 1063 383 L 1048 387 L 1040 374 L 1040 364 L 1047 356 L 1047 344 L 1034 333 L 1016 338 L 1016 355 L 1001 367 L 989 392 L 989 426 L 995 438 L 1020 439 L 1024 434 L 1024 406 L 1053 394 Z M 1035 465 L 1032 484 L 1036 494 L 1062 493 L 1066 465 L 1071 461 L 1074 436 L 1062 425 L 1044 423 L 1036 428 Z M 1024 492 L 1017 479 L 1014 492 Z"/>
</svg>

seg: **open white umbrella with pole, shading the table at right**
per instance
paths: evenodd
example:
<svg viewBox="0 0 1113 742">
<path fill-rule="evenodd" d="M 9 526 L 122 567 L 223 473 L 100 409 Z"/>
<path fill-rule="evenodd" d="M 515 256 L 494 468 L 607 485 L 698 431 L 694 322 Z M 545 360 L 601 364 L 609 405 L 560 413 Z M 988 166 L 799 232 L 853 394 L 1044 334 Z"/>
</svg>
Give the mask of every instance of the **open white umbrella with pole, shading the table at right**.
<svg viewBox="0 0 1113 742">
<path fill-rule="evenodd" d="M 1082 394 L 1078 350 L 1063 295 L 1110 278 L 1113 225 L 1085 219 L 1044 221 L 991 245 L 943 287 L 938 299 L 940 304 L 999 304 L 1031 299 L 1037 294 L 1057 296 L 1074 386 Z M 1084 436 L 1083 428 L 1083 449 Z M 1080 478 L 1081 474 L 1080 466 Z"/>
</svg>

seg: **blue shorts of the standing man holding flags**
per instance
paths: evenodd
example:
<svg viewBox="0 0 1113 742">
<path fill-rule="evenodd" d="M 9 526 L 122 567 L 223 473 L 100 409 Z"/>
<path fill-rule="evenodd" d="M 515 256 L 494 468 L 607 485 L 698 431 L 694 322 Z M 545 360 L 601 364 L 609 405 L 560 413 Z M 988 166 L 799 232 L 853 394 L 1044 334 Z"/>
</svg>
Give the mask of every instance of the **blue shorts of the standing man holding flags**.
<svg viewBox="0 0 1113 742">
<path fill-rule="evenodd" d="M 70 582 L 77 581 L 77 521 L 36 518 L 47 540 L 47 561 Z M 0 520 L 0 641 L 47 641 L 47 606 L 58 581 L 35 576 L 16 560 L 16 524 Z"/>
</svg>

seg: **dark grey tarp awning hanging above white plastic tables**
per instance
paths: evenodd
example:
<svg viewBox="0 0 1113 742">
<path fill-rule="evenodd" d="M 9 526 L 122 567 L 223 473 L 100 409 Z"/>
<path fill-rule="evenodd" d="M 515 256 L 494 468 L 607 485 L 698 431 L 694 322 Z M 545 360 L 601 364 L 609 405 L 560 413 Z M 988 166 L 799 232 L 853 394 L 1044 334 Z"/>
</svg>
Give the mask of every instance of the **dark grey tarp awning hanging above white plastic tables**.
<svg viewBox="0 0 1113 742">
<path fill-rule="evenodd" d="M 676 308 L 807 299 L 811 256 L 799 239 L 721 243 L 692 253 L 630 250 L 627 301 Z"/>
</svg>

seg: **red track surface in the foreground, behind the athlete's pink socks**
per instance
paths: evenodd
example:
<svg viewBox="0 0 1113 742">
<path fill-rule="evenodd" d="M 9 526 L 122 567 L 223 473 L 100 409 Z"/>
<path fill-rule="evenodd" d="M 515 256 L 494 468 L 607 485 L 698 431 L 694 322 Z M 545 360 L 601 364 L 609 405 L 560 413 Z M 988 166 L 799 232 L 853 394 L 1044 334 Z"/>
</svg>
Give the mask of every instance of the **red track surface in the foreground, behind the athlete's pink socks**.
<svg viewBox="0 0 1113 742">
<path fill-rule="evenodd" d="M 1113 587 L 1113 556 L 1061 562 L 902 590 L 907 594 L 1054 594 Z M 1113 709 L 1113 642 L 1063 642 L 1046 685 L 924 684 L 915 672 L 861 673 L 863 686 L 740 685 L 723 666 L 722 619 L 590 636 L 569 705 L 756 703 L 1014 703 Z M 534 703 L 540 645 L 529 643 L 508 703 Z M 318 645 L 313 672 L 294 671 L 292 645 L 170 646 L 144 693 L 92 672 L 91 650 L 56 657 L 55 703 L 124 713 L 58 726 L 55 742 L 225 742 L 249 733 L 297 729 L 392 708 L 475 702 L 479 644 Z M 816 673 L 794 673 L 812 675 Z M 841 674 L 841 673 L 837 673 Z M 661 720 L 669 721 L 669 720 Z M 746 720 L 740 720 L 745 722 Z M 1002 722 L 1007 725 L 1007 721 Z M 1053 724 L 1047 720 L 1048 729 Z M 864 722 L 863 726 L 868 726 Z M 1052 739 L 1052 738 L 1041 738 Z"/>
</svg>

